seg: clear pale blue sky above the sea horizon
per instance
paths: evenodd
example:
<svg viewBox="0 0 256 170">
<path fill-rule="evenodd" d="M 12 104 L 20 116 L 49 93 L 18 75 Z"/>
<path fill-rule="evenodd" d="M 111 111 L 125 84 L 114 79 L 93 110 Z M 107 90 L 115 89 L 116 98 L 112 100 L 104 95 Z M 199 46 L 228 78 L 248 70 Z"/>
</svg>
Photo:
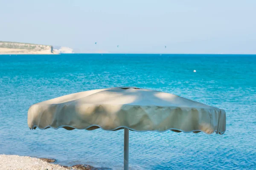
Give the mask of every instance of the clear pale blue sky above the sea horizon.
<svg viewBox="0 0 256 170">
<path fill-rule="evenodd" d="M 256 0 L 0 0 L 0 40 L 76 53 L 256 54 Z"/>
</svg>

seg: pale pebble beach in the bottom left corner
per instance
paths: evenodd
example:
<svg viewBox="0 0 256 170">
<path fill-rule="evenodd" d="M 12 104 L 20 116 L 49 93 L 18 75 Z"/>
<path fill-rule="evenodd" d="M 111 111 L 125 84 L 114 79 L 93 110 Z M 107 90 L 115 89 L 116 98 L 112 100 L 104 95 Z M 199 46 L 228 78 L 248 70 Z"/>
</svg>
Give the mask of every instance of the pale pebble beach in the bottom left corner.
<svg viewBox="0 0 256 170">
<path fill-rule="evenodd" d="M 86 164 L 62 166 L 55 163 L 55 159 L 35 158 L 31 156 L 0 155 L 0 169 L 3 170 L 99 170 L 102 168 Z"/>
</svg>

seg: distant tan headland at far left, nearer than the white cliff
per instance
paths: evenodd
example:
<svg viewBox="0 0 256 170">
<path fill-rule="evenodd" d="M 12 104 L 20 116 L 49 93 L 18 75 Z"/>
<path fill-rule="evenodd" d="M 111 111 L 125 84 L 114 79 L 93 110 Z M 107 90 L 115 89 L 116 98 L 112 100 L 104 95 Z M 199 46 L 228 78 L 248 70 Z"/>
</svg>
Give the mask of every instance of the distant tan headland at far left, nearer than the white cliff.
<svg viewBox="0 0 256 170">
<path fill-rule="evenodd" d="M 0 41 L 0 54 L 55 54 L 52 45 Z"/>
</svg>

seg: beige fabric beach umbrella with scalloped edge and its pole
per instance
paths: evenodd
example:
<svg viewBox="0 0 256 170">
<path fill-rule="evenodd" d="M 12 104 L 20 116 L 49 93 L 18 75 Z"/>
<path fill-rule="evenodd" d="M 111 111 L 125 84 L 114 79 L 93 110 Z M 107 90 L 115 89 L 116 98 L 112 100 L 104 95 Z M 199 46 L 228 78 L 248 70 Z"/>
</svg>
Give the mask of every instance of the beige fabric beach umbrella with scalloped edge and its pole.
<svg viewBox="0 0 256 170">
<path fill-rule="evenodd" d="M 224 110 L 160 91 L 118 87 L 84 91 L 30 106 L 30 129 L 124 129 L 124 169 L 128 170 L 129 130 L 223 134 Z"/>
</svg>

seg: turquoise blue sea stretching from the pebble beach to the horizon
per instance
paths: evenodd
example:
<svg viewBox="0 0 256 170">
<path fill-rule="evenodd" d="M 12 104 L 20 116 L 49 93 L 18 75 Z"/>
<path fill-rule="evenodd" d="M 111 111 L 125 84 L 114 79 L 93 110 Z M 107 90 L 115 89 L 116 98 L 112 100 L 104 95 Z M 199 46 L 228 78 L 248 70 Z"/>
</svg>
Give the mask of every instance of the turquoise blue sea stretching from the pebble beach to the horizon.
<svg viewBox="0 0 256 170">
<path fill-rule="evenodd" d="M 169 92 L 227 113 L 224 135 L 130 132 L 132 170 L 256 169 L 256 55 L 0 55 L 0 154 L 122 169 L 123 130 L 27 125 L 34 103 L 114 86 Z"/>
</svg>

